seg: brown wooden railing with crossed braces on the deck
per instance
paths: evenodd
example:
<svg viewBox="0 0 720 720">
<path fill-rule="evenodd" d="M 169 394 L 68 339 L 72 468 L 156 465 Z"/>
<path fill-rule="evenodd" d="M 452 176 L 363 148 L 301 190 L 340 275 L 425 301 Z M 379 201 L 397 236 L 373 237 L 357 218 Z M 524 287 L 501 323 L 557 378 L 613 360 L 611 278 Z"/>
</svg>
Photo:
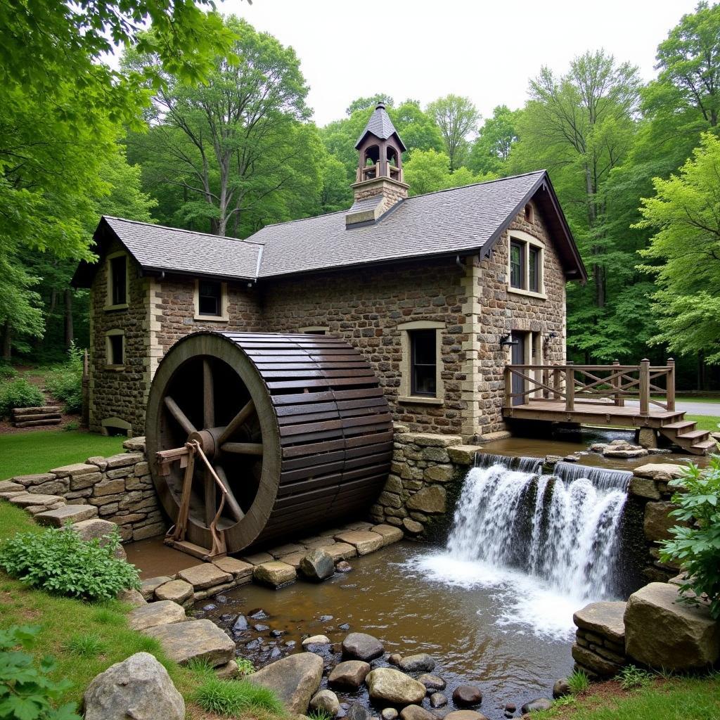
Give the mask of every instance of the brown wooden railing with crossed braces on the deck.
<svg viewBox="0 0 720 720">
<path fill-rule="evenodd" d="M 522 390 L 513 390 L 513 378 Z M 653 397 L 654 396 L 654 397 Z M 515 402 L 517 398 L 519 402 Z M 660 397 L 660 399 L 658 399 Z M 627 399 L 639 400 L 640 415 L 649 415 L 650 405 L 675 410 L 675 361 L 653 366 L 639 365 L 508 365 L 505 367 L 505 407 L 532 400 L 564 400 L 565 410 L 583 405 L 622 407 Z"/>
</svg>

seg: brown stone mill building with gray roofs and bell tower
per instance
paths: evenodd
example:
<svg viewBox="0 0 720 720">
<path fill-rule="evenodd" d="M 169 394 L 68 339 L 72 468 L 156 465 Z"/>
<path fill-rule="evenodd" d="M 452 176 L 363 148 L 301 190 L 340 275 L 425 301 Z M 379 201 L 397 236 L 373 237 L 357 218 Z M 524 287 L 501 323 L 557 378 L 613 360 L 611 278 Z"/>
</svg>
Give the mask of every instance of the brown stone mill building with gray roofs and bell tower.
<svg viewBox="0 0 720 720">
<path fill-rule="evenodd" d="M 354 204 L 246 240 L 102 217 L 91 290 L 89 418 L 140 435 L 153 373 L 197 330 L 331 333 L 372 364 L 395 420 L 503 431 L 505 365 L 564 362 L 565 284 L 585 268 L 545 171 L 408 196 L 378 104 Z"/>
</svg>

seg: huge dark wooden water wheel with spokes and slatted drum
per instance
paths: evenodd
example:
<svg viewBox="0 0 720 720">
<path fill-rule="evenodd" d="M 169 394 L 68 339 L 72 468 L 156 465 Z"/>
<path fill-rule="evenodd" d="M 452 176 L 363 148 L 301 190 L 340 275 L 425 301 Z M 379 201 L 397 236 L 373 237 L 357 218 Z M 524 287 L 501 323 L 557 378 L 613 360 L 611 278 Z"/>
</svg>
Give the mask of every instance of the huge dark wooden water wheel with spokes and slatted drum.
<svg viewBox="0 0 720 720">
<path fill-rule="evenodd" d="M 330 336 L 186 336 L 158 366 L 145 433 L 168 542 L 204 558 L 360 513 L 390 472 L 382 388 Z"/>
</svg>

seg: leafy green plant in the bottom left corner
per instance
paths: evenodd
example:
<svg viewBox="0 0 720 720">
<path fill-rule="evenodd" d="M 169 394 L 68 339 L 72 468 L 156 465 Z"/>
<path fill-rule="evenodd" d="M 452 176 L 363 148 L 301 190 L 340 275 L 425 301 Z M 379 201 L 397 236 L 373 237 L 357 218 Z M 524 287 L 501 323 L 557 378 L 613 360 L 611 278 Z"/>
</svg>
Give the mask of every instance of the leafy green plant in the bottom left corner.
<svg viewBox="0 0 720 720">
<path fill-rule="evenodd" d="M 80 720 L 75 703 L 57 707 L 59 698 L 71 685 L 69 680 L 55 682 L 51 657 L 36 667 L 32 648 L 40 628 L 12 626 L 0 629 L 0 720 Z"/>
</svg>

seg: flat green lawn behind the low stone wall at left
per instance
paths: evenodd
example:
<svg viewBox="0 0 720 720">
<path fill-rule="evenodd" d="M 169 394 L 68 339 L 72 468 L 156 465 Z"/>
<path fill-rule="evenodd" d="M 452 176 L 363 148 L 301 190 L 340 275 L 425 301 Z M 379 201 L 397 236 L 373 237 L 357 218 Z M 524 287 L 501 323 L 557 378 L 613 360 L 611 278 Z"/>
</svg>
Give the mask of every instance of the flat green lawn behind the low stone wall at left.
<svg viewBox="0 0 720 720">
<path fill-rule="evenodd" d="M 0 480 L 122 452 L 123 437 L 48 430 L 0 435 Z"/>
</svg>

